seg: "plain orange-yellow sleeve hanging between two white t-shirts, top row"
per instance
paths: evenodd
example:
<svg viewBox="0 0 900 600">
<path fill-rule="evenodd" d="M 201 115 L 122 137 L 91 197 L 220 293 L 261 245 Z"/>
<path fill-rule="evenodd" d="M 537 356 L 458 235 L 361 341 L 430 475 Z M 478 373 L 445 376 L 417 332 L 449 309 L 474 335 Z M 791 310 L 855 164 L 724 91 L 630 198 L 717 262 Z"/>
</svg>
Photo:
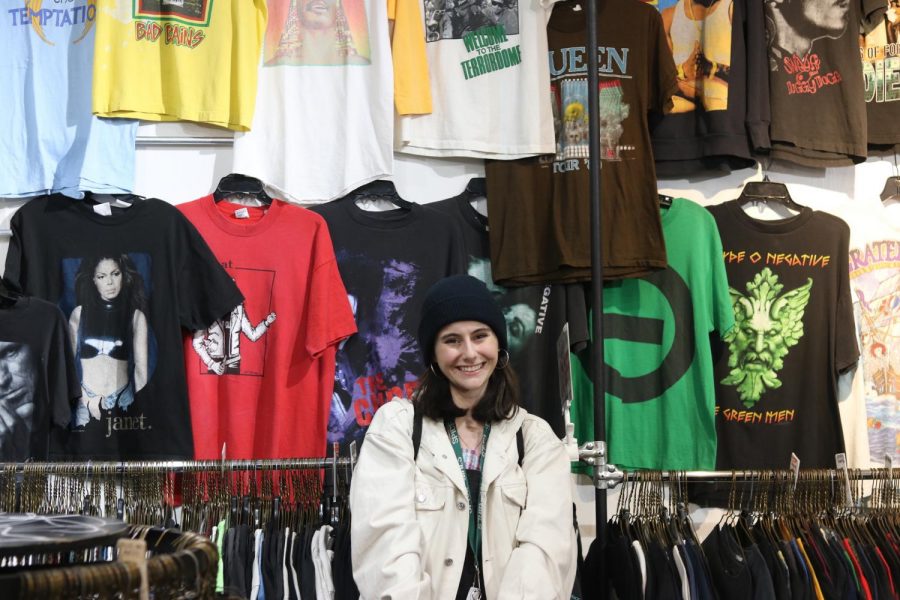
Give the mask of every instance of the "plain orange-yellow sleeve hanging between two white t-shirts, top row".
<svg viewBox="0 0 900 600">
<path fill-rule="evenodd" d="M 401 115 L 431 112 L 425 24 L 418 0 L 387 0 L 394 22 L 391 51 L 394 62 L 394 105 Z"/>
</svg>

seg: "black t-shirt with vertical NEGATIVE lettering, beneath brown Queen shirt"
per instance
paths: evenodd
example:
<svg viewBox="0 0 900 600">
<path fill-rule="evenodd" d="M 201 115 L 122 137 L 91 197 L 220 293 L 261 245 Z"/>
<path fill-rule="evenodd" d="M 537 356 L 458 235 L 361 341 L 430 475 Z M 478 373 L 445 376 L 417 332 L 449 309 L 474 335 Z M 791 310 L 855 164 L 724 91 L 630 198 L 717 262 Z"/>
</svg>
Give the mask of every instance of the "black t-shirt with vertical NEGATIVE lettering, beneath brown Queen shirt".
<svg viewBox="0 0 900 600">
<path fill-rule="evenodd" d="M 569 324 L 569 345 L 587 342 L 587 309 L 580 284 L 530 285 L 504 288 L 494 283 L 487 217 L 475 210 L 469 193 L 425 206 L 456 220 L 462 232 L 466 271 L 483 281 L 503 309 L 509 360 L 519 378 L 522 405 L 547 421 L 557 437 L 564 437 L 564 407 L 560 394 L 557 341 Z"/>
</svg>

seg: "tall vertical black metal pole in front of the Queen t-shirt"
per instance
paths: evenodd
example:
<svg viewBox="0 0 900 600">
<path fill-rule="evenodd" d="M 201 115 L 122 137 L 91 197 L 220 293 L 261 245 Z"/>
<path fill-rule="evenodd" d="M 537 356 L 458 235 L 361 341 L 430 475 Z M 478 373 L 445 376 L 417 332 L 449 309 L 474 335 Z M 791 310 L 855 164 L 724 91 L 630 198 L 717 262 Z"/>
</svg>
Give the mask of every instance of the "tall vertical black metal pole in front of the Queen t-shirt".
<svg viewBox="0 0 900 600">
<path fill-rule="evenodd" d="M 591 380 L 594 382 L 594 440 L 599 452 L 594 462 L 594 511 L 597 519 L 597 542 L 600 551 L 600 589 L 606 594 L 606 482 L 599 479 L 606 469 L 606 381 L 603 353 L 603 246 L 602 209 L 600 197 L 600 106 L 597 47 L 597 2 L 587 3 L 587 55 L 588 55 L 588 127 L 590 133 L 590 199 L 591 199 Z"/>
</svg>

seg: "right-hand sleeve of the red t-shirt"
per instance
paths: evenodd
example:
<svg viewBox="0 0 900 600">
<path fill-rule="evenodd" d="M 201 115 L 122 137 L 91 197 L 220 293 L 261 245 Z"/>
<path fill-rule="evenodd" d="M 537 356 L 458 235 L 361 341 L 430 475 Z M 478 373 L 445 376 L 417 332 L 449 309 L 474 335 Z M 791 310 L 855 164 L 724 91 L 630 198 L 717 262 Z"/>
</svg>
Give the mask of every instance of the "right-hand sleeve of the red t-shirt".
<svg viewBox="0 0 900 600">
<path fill-rule="evenodd" d="M 338 270 L 328 226 L 321 216 L 316 215 L 316 218 L 319 228 L 304 315 L 306 351 L 312 357 L 320 356 L 329 346 L 356 333 L 356 321 Z"/>
</svg>

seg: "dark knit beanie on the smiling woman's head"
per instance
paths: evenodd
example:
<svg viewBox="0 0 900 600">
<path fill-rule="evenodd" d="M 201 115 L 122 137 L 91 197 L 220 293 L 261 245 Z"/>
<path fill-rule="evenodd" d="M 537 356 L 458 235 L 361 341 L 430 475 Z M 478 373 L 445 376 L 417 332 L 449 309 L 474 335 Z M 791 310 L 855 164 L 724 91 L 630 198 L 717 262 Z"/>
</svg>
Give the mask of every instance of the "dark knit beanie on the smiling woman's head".
<svg viewBox="0 0 900 600">
<path fill-rule="evenodd" d="M 478 321 L 494 331 L 506 349 L 506 319 L 481 281 L 471 275 L 453 275 L 435 283 L 425 294 L 419 321 L 419 347 L 425 364 L 434 362 L 434 339 L 444 326 L 456 321 Z"/>
</svg>

